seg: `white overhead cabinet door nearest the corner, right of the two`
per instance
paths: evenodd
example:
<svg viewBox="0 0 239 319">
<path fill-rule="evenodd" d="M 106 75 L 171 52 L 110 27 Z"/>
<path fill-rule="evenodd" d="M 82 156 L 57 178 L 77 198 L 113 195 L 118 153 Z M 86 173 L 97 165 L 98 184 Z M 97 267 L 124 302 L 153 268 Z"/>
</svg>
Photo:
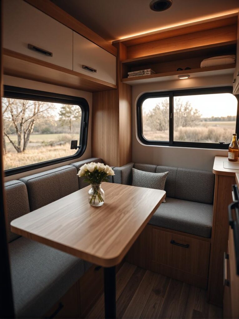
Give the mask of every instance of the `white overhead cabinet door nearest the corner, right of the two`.
<svg viewBox="0 0 239 319">
<path fill-rule="evenodd" d="M 116 84 L 116 57 L 73 32 L 73 71 Z"/>
</svg>

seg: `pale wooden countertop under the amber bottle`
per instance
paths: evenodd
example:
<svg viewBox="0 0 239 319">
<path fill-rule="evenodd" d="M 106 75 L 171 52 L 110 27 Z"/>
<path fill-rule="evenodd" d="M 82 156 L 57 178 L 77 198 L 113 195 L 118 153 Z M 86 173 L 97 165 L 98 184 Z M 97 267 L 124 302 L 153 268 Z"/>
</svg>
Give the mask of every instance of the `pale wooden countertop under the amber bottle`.
<svg viewBox="0 0 239 319">
<path fill-rule="evenodd" d="M 226 156 L 215 156 L 212 172 L 216 175 L 235 176 L 235 173 L 239 173 L 239 161 L 230 162 Z"/>
</svg>

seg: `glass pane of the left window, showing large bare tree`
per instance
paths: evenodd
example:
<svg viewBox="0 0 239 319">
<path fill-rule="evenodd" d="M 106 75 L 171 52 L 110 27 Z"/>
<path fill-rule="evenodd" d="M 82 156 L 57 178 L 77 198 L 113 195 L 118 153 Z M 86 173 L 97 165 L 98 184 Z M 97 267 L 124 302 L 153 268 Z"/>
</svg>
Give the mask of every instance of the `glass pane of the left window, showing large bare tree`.
<svg viewBox="0 0 239 319">
<path fill-rule="evenodd" d="M 2 99 L 4 169 L 11 169 L 76 153 L 81 107 L 13 98 Z"/>
</svg>

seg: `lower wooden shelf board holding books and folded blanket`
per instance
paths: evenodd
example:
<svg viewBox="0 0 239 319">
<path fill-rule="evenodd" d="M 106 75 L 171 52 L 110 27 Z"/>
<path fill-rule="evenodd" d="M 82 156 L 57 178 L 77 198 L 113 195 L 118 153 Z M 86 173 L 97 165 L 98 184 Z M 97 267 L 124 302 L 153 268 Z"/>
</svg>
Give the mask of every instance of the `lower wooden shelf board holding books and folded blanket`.
<svg viewBox="0 0 239 319">
<path fill-rule="evenodd" d="M 191 78 L 200 77 L 200 76 L 213 76 L 220 74 L 233 74 L 235 71 L 235 64 L 219 65 L 207 68 L 192 69 L 192 70 L 182 70 L 182 71 L 173 71 L 165 73 L 157 73 L 151 75 L 144 75 L 134 78 L 122 78 L 122 82 L 127 82 L 130 85 L 141 84 L 141 83 L 150 83 L 157 81 L 168 81 L 178 78 L 178 75 L 189 74 Z"/>
</svg>

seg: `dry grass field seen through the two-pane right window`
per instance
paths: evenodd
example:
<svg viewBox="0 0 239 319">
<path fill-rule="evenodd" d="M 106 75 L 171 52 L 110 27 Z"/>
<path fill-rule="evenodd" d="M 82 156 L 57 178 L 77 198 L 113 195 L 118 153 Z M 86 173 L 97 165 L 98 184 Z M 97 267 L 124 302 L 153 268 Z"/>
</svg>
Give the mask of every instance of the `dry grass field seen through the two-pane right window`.
<svg viewBox="0 0 239 319">
<path fill-rule="evenodd" d="M 235 133 L 235 122 L 201 122 L 196 127 L 174 128 L 173 140 L 179 142 L 230 143 Z M 168 141 L 169 131 L 144 130 L 143 135 L 151 141 Z"/>
</svg>

